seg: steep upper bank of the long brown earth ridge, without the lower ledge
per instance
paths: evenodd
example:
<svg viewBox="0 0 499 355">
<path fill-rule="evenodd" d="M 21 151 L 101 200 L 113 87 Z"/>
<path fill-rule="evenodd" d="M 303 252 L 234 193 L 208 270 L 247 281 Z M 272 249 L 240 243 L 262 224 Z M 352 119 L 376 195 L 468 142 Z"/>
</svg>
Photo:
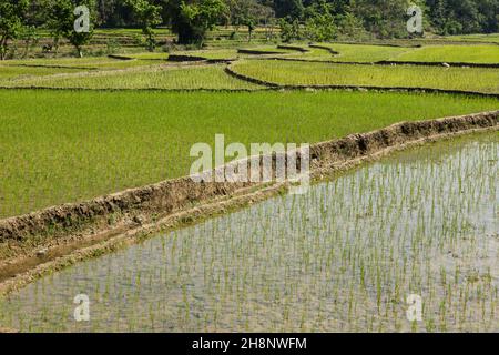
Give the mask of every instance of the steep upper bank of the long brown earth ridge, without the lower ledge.
<svg viewBox="0 0 499 355">
<path fill-rule="evenodd" d="M 499 111 L 438 119 L 403 122 L 370 133 L 353 134 L 344 139 L 310 146 L 313 176 L 334 171 L 350 161 L 373 154 L 467 131 L 498 128 Z M 299 155 L 298 155 L 299 156 Z M 254 158 L 252 158 L 254 159 Z M 249 160 L 245 160 L 249 164 Z M 262 163 L 262 159 L 258 158 Z M 275 169 L 276 155 L 273 155 Z M 299 159 L 296 159 L 299 164 Z M 241 194 L 247 187 L 262 184 L 194 182 L 191 176 L 164 181 L 149 186 L 126 190 L 81 203 L 71 203 L 0 221 L 0 243 L 31 244 L 31 242 L 105 233 L 113 226 L 154 222 L 157 216 L 193 209 L 217 199 Z M 34 243 L 34 244 L 37 244 Z"/>
</svg>

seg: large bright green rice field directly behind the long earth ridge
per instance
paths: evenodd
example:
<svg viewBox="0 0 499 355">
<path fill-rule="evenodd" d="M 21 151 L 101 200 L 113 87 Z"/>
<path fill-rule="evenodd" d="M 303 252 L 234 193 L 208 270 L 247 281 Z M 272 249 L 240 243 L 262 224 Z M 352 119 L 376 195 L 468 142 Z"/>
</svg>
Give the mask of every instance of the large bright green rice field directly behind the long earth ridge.
<svg viewBox="0 0 499 355">
<path fill-rule="evenodd" d="M 319 142 L 499 109 L 495 99 L 367 92 L 1 90 L 0 216 L 187 175 L 194 143 Z"/>
</svg>

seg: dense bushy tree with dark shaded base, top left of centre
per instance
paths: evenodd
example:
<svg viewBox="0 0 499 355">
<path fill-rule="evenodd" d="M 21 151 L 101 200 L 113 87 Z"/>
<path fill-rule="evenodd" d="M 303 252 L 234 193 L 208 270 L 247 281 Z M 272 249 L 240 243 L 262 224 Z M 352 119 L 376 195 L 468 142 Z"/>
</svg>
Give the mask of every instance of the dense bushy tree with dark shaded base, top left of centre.
<svg viewBox="0 0 499 355">
<path fill-rule="evenodd" d="M 206 32 L 228 13 L 224 0 L 170 0 L 167 10 L 179 43 L 197 45 L 203 44 Z"/>
</svg>

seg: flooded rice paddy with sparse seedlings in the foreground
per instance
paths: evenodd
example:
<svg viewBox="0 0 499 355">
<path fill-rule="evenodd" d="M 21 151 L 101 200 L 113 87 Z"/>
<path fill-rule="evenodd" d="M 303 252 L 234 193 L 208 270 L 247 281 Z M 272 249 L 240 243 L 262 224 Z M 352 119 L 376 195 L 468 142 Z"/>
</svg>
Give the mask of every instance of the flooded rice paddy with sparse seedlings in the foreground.
<svg viewBox="0 0 499 355">
<path fill-rule="evenodd" d="M 435 143 L 154 236 L 9 295 L 0 326 L 498 332 L 498 153 L 497 132 Z"/>
</svg>

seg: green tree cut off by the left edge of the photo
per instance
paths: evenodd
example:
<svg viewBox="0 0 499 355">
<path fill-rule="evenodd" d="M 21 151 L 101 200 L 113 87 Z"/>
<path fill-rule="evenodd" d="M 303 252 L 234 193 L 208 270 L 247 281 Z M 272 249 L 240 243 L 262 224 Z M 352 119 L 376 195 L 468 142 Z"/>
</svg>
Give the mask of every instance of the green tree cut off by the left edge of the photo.
<svg viewBox="0 0 499 355">
<path fill-rule="evenodd" d="M 22 33 L 28 7 L 29 0 L 0 0 L 0 60 L 7 57 L 9 41 Z"/>
</svg>

